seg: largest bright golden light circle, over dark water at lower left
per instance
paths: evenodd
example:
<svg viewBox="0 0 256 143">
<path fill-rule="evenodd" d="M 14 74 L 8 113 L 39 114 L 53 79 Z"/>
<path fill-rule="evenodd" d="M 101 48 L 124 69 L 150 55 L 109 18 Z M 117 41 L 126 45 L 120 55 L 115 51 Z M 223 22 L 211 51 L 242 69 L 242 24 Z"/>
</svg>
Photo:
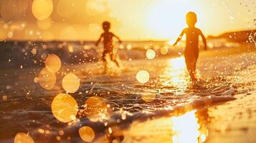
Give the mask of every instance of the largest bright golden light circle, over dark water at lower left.
<svg viewBox="0 0 256 143">
<path fill-rule="evenodd" d="M 60 122 L 75 121 L 78 112 L 77 102 L 69 94 L 58 94 L 52 101 L 52 114 Z"/>
</svg>

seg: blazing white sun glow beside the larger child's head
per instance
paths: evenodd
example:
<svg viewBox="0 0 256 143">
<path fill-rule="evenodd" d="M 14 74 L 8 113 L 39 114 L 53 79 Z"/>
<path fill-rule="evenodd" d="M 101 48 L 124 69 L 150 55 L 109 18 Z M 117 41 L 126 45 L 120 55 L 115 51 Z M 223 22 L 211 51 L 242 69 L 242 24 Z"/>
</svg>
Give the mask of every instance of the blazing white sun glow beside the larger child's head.
<svg viewBox="0 0 256 143">
<path fill-rule="evenodd" d="M 148 12 L 147 26 L 156 39 L 171 39 L 179 36 L 186 27 L 185 15 L 195 10 L 192 1 L 163 0 L 158 1 Z"/>
</svg>

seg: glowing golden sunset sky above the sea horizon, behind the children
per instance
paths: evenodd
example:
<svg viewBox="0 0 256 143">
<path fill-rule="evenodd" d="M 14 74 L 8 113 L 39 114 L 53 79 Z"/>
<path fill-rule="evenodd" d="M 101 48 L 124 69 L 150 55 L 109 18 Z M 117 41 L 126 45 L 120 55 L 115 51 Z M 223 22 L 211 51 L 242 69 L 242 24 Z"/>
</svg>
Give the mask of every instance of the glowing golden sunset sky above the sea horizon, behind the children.
<svg viewBox="0 0 256 143">
<path fill-rule="evenodd" d="M 0 39 L 96 40 L 101 23 L 124 40 L 173 40 L 195 11 L 206 35 L 255 29 L 252 0 L 1 0 Z"/>
</svg>

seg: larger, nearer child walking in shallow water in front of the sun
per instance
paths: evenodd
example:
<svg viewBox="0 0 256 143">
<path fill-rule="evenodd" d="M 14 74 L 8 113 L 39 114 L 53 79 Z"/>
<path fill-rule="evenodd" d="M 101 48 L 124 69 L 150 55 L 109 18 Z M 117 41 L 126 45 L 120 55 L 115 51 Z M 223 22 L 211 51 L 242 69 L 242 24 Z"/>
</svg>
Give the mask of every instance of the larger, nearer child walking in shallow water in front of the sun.
<svg viewBox="0 0 256 143">
<path fill-rule="evenodd" d="M 196 61 L 199 56 L 199 36 L 202 36 L 204 42 L 204 50 L 207 50 L 207 39 L 205 39 L 204 34 L 200 29 L 195 27 L 197 22 L 196 14 L 194 12 L 189 12 L 186 14 L 186 24 L 188 28 L 184 29 L 174 46 L 181 40 L 182 36 L 186 34 L 186 49 L 184 51 L 186 60 L 186 69 L 189 71 L 189 75 L 192 81 L 196 81 Z"/>
</svg>

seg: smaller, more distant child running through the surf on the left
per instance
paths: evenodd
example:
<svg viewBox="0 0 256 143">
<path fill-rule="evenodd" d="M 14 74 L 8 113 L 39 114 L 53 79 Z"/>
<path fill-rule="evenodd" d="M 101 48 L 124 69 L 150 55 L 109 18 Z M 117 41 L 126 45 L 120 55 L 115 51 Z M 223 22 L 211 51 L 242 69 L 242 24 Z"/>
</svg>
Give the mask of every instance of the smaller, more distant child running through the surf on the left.
<svg viewBox="0 0 256 143">
<path fill-rule="evenodd" d="M 105 56 L 106 54 L 109 54 L 111 61 L 114 61 L 115 64 L 119 67 L 118 61 L 115 60 L 115 55 L 113 54 L 113 37 L 118 39 L 120 43 L 122 41 L 118 36 L 115 36 L 115 34 L 110 32 L 109 29 L 110 29 L 110 23 L 108 21 L 103 22 L 104 33 L 100 35 L 100 39 L 98 39 L 95 45 L 98 46 L 101 39 L 103 38 L 103 44 L 104 44 L 103 61 L 106 62 Z"/>
</svg>

